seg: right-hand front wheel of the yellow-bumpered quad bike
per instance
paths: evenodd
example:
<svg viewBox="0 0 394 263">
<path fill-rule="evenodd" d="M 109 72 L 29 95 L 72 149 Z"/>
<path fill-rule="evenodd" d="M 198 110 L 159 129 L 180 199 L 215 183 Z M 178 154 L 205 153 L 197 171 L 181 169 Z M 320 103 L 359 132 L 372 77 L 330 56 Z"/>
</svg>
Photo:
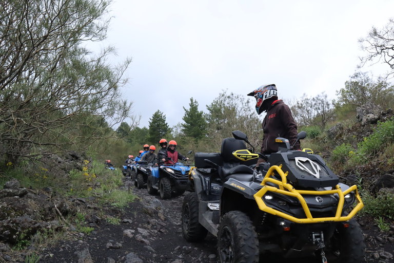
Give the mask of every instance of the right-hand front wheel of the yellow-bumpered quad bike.
<svg viewBox="0 0 394 263">
<path fill-rule="evenodd" d="M 360 225 L 354 218 L 348 224 L 347 228 L 338 224 L 329 245 L 324 249 L 328 262 L 359 263 L 363 260 L 365 243 Z"/>
</svg>

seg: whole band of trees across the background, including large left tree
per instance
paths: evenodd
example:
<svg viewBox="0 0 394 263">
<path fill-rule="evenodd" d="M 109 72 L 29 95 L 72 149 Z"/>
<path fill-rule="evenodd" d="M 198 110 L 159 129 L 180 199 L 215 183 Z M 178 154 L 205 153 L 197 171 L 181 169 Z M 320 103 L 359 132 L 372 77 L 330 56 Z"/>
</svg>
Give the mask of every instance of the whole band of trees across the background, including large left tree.
<svg viewBox="0 0 394 263">
<path fill-rule="evenodd" d="M 259 146 L 262 119 L 254 112 L 254 102 L 225 90 L 205 111 L 190 98 L 183 122 L 174 127 L 169 127 L 160 110 L 150 118 L 149 127 L 139 127 L 132 103 L 120 99 L 131 58 L 113 66 L 108 62 L 115 53 L 112 47 L 100 53 L 86 47 L 87 42 L 106 38 L 109 5 L 96 0 L 0 3 L 0 155 L 4 163 L 82 149 L 122 162 L 143 144 L 157 145 L 161 138 L 178 140 L 181 150 L 216 152 L 222 139 L 236 129 Z M 336 89 L 333 101 L 324 92 L 285 101 L 300 129 L 314 126 L 324 132 L 337 121 L 353 118 L 356 107 L 367 101 L 383 108 L 393 106 L 394 86 L 387 78 L 394 72 L 393 26 L 389 20 L 382 30 L 372 28 L 359 40 L 366 54 L 360 66 L 386 63 L 390 67 L 386 76 L 373 78 L 369 72 L 357 71 Z M 127 118 L 131 121 L 126 122 Z"/>
</svg>

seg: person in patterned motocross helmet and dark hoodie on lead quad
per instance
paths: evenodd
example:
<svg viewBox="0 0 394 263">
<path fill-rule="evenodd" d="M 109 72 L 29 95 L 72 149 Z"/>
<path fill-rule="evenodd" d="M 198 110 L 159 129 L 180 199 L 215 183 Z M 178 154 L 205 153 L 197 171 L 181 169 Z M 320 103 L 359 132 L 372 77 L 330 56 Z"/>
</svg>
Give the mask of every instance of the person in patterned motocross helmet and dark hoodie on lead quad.
<svg viewBox="0 0 394 263">
<path fill-rule="evenodd" d="M 277 137 L 289 139 L 290 145 L 297 140 L 297 124 L 291 115 L 290 108 L 282 101 L 278 100 L 278 90 L 275 84 L 267 84 L 253 90 L 248 96 L 254 96 L 257 101 L 256 111 L 261 114 L 266 111 L 267 115 L 263 120 L 263 143 L 261 144 L 262 154 L 278 152 Z M 295 143 L 295 150 L 301 151 L 300 142 Z M 257 167 L 264 159 L 257 161 Z"/>
</svg>

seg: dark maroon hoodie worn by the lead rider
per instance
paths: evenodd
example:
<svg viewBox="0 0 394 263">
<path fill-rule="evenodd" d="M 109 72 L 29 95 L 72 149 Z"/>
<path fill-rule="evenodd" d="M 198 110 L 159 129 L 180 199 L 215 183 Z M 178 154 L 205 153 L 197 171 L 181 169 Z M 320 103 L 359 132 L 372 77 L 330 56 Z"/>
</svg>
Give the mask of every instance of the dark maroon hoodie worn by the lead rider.
<svg viewBox="0 0 394 263">
<path fill-rule="evenodd" d="M 262 154 L 278 152 L 278 143 L 275 142 L 277 137 L 289 139 L 290 145 L 297 140 L 297 124 L 289 106 L 282 100 L 276 100 L 268 107 L 267 115 L 263 120 L 263 132 Z M 297 142 L 293 149 L 301 149 L 300 142 Z"/>
</svg>

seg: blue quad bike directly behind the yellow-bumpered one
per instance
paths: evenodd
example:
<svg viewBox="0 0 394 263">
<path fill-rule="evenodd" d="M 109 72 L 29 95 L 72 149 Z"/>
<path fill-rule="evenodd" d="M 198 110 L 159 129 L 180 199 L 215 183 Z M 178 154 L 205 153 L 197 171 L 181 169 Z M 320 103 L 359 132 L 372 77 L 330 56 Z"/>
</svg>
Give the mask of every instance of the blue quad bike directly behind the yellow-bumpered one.
<svg viewBox="0 0 394 263">
<path fill-rule="evenodd" d="M 186 155 L 189 154 L 191 151 Z M 162 199 L 171 198 L 173 192 L 182 195 L 189 185 L 190 166 L 182 162 L 160 165 L 159 169 L 152 171 L 152 175 L 148 177 L 148 193 L 156 194 L 159 191 Z"/>
</svg>

